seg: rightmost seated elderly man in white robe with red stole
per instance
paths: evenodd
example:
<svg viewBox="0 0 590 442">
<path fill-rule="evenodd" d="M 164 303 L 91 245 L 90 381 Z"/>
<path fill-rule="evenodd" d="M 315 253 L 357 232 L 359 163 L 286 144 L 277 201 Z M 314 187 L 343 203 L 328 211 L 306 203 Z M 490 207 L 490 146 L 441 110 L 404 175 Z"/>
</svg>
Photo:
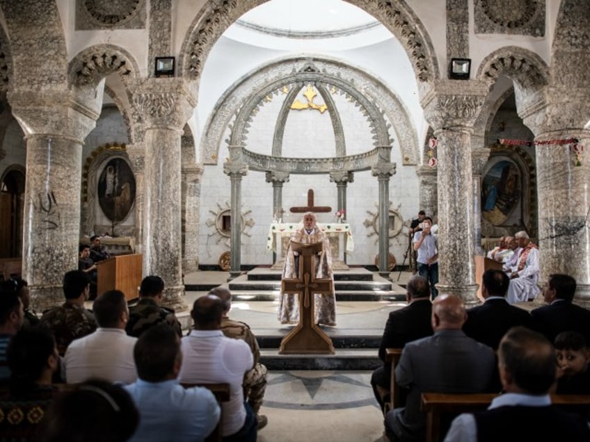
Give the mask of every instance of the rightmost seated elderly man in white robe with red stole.
<svg viewBox="0 0 590 442">
<path fill-rule="evenodd" d="M 513 265 L 507 274 L 510 277 L 507 301 L 510 304 L 534 300 L 539 287 L 539 249 L 531 242 L 527 232 L 519 231 L 516 235 L 520 254 L 516 264 Z"/>
</svg>

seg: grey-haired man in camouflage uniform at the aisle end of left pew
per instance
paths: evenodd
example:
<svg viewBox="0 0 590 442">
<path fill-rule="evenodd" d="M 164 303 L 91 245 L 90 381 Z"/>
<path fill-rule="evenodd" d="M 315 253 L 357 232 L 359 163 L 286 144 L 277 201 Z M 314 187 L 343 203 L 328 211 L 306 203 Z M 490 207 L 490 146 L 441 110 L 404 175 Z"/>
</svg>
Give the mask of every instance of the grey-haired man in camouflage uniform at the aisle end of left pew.
<svg viewBox="0 0 590 442">
<path fill-rule="evenodd" d="M 258 429 L 262 429 L 269 422 L 263 414 L 259 414 L 264 391 L 266 391 L 266 366 L 260 363 L 260 348 L 256 337 L 245 322 L 232 320 L 228 317 L 232 308 L 232 294 L 225 287 L 215 287 L 209 291 L 209 295 L 216 295 L 223 302 L 223 318 L 221 319 L 221 331 L 228 338 L 241 339 L 250 345 L 254 357 L 253 368 L 244 375 L 244 397 L 248 399 L 250 407 L 254 410 L 258 420 Z"/>
</svg>

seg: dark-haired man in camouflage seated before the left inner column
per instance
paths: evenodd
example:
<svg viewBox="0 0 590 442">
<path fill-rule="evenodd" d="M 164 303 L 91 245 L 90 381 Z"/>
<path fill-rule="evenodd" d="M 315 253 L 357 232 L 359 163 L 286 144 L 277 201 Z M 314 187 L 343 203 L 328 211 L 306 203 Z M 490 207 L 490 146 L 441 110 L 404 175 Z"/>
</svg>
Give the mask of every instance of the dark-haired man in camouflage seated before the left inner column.
<svg viewBox="0 0 590 442">
<path fill-rule="evenodd" d="M 139 288 L 139 301 L 129 306 L 129 321 L 125 331 L 129 336 L 138 338 L 145 330 L 160 322 L 166 322 L 182 336 L 182 328 L 178 322 L 173 309 L 166 309 L 161 306 L 162 292 L 164 292 L 164 281 L 159 276 L 148 276 L 143 278 Z"/>
</svg>

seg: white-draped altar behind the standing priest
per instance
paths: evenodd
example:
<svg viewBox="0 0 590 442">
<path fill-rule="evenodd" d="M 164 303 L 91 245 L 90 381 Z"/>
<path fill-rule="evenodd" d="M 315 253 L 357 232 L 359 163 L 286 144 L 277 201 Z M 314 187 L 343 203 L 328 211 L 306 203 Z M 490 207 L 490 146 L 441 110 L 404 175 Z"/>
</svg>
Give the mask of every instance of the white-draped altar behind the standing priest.
<svg viewBox="0 0 590 442">
<path fill-rule="evenodd" d="M 334 270 L 339 270 L 340 267 L 347 269 L 346 255 L 351 255 L 354 250 L 351 225 L 346 222 L 318 222 L 316 225 L 330 240 Z M 287 249 L 289 238 L 302 227 L 303 223 L 301 222 L 273 222 L 270 225 L 269 236 L 266 238 L 266 250 L 276 254 L 273 267 L 282 268 L 284 251 Z M 341 250 L 343 251 L 342 254 Z M 339 263 L 342 263 L 342 265 L 339 265 Z"/>
</svg>

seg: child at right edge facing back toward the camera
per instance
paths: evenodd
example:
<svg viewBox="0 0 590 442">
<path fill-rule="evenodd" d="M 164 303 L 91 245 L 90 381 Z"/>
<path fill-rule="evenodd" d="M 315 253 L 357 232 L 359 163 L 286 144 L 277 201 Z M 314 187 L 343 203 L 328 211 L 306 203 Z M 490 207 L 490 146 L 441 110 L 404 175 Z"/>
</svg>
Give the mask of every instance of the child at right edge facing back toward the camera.
<svg viewBox="0 0 590 442">
<path fill-rule="evenodd" d="M 557 352 L 557 391 L 565 394 L 590 394 L 590 349 L 584 335 L 562 331 L 555 336 Z"/>
</svg>

